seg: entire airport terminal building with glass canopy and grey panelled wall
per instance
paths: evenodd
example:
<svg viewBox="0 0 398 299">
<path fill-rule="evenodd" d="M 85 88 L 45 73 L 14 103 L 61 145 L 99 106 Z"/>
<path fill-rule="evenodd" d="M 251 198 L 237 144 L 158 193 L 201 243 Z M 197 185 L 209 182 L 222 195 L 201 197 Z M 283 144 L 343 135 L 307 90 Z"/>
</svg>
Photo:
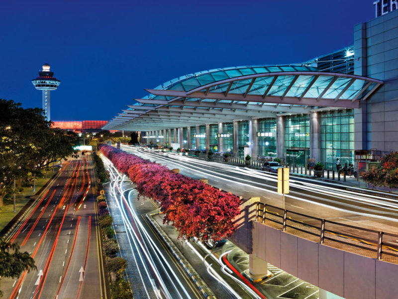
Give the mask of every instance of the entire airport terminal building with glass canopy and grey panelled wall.
<svg viewBox="0 0 398 299">
<path fill-rule="evenodd" d="M 398 150 L 398 7 L 375 1 L 350 47 L 302 64 L 213 69 L 136 99 L 104 130 L 146 132 L 148 143 L 249 153 L 332 168 L 355 149 Z"/>
</svg>

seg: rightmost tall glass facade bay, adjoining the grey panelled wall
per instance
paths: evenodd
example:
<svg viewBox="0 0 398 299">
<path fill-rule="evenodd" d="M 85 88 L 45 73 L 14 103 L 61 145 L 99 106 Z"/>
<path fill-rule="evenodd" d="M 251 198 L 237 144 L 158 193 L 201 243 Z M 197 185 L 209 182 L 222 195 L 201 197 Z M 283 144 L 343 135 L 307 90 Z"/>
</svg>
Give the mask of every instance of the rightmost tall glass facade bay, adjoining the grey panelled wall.
<svg viewBox="0 0 398 299">
<path fill-rule="evenodd" d="M 321 161 L 326 169 L 336 168 L 336 159 L 341 165 L 354 163 L 354 111 L 338 110 L 324 112 L 320 116 Z"/>
</svg>

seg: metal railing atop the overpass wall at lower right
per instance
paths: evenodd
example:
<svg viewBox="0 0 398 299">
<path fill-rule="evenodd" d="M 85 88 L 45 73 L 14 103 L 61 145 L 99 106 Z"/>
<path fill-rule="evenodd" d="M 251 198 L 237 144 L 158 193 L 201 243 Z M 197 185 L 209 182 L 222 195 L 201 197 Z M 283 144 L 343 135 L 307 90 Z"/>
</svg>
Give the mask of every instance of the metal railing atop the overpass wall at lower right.
<svg viewBox="0 0 398 299">
<path fill-rule="evenodd" d="M 298 220 L 297 216 L 309 221 Z M 385 242 L 383 240 L 385 236 L 391 237 L 392 240 L 397 240 L 397 234 L 338 223 L 258 202 L 256 221 L 265 223 L 266 220 L 280 224 L 283 231 L 290 228 L 316 236 L 319 238 L 320 244 L 324 244 L 325 240 L 330 240 L 340 244 L 376 252 L 376 258 L 379 260 L 382 259 L 383 254 L 398 257 L 398 244 L 392 244 L 392 242 Z M 344 228 L 346 231 L 344 231 Z M 347 229 L 350 232 L 347 232 Z M 355 233 L 351 231 L 357 231 L 358 235 L 355 235 Z M 364 233 L 367 233 L 368 235 L 370 233 L 371 235 L 374 235 L 374 238 L 363 237 Z"/>
</svg>

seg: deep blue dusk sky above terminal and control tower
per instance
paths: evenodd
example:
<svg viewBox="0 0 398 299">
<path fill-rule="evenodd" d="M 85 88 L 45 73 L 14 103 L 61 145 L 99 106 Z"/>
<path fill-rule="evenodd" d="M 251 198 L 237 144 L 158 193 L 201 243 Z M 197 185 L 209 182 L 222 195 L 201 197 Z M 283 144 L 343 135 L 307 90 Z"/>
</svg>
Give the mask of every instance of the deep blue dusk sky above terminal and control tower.
<svg viewBox="0 0 398 299">
<path fill-rule="evenodd" d="M 350 46 L 373 0 L 2 1 L 0 98 L 41 108 L 31 79 L 61 80 L 51 118 L 110 120 L 165 81 L 197 71 L 289 64 Z"/>
</svg>

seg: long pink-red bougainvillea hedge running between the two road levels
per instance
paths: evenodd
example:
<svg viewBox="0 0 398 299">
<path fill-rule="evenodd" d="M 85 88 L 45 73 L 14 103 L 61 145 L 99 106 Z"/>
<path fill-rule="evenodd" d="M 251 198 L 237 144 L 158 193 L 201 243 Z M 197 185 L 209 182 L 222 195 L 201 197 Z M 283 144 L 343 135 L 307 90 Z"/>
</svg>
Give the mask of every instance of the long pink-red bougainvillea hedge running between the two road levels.
<svg viewBox="0 0 398 299">
<path fill-rule="evenodd" d="M 107 145 L 101 152 L 127 174 L 140 195 L 160 202 L 165 223 L 173 223 L 180 237 L 219 240 L 235 231 L 239 198 L 167 167 Z"/>
</svg>

